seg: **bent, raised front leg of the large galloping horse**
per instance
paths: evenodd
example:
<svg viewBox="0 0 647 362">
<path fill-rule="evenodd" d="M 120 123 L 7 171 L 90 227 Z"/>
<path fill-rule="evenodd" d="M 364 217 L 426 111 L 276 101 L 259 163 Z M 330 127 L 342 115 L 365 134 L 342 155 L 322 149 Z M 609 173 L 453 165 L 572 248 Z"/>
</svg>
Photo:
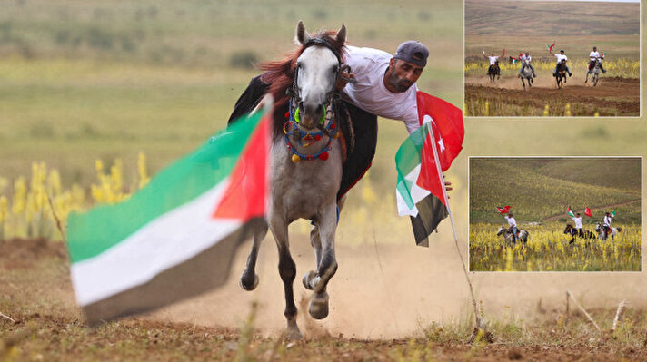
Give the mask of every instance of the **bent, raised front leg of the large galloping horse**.
<svg viewBox="0 0 647 362">
<path fill-rule="evenodd" d="M 315 319 L 328 316 L 328 282 L 337 272 L 337 260 L 334 255 L 334 234 L 337 230 L 337 203 L 333 201 L 324 207 L 318 215 L 317 226 L 321 240 L 321 254 L 317 266 L 317 277 L 310 282 L 314 291 L 308 311 Z"/>
</svg>

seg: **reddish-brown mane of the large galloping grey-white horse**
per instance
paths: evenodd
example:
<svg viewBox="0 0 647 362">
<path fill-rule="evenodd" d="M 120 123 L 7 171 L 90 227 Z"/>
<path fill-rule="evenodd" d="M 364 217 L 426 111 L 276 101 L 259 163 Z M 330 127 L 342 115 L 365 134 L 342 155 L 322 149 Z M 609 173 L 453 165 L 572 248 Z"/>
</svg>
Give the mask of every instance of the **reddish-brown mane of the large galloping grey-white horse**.
<svg viewBox="0 0 647 362">
<path fill-rule="evenodd" d="M 341 61 L 343 62 L 346 48 L 343 43 L 337 41 L 336 34 L 337 32 L 335 31 L 321 31 L 310 36 L 323 39 L 328 44 L 331 44 L 337 54 L 341 56 Z M 260 65 L 260 68 L 265 71 L 261 76 L 261 80 L 266 84 L 270 84 L 267 93 L 274 98 L 274 120 L 276 120 L 273 122 L 274 136 L 283 133 L 284 105 L 290 98 L 286 90 L 294 82 L 296 60 L 304 53 L 304 50 L 304 45 L 299 45 L 292 53 L 286 54 L 283 59 L 264 62 Z"/>
</svg>

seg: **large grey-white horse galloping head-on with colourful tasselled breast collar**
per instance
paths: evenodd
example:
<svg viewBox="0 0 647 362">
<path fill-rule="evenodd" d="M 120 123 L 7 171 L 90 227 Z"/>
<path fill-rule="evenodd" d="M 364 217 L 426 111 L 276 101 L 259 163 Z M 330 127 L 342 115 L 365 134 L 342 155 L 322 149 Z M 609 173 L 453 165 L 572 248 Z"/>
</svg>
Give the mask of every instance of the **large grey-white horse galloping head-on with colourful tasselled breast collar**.
<svg viewBox="0 0 647 362">
<path fill-rule="evenodd" d="M 340 127 L 335 125 L 333 92 L 342 67 L 346 28 L 311 37 L 300 21 L 296 39 L 301 48 L 293 59 L 276 67 L 292 80 L 289 120 L 284 110 L 274 112 L 274 132 L 271 162 L 271 197 L 267 224 L 254 230 L 254 244 L 240 279 L 245 290 L 255 289 L 258 276 L 254 273 L 261 241 L 272 230 L 279 252 L 279 274 L 284 282 L 287 338 L 301 339 L 296 325 L 293 282 L 296 266 L 290 255 L 288 225 L 297 219 L 312 220 L 311 244 L 316 269 L 306 273 L 304 287 L 314 290 L 309 313 L 322 319 L 328 315 L 326 286 L 337 270 L 334 236 L 337 228 L 337 191 L 342 180 L 342 147 L 337 139 Z M 278 63 L 277 63 L 278 64 Z M 285 71 L 287 70 L 287 71 Z M 285 94 L 283 89 L 277 94 Z M 280 106 L 277 102 L 275 107 Z M 285 124 L 284 124 L 285 123 Z M 339 201 L 340 207 L 343 200 Z"/>
</svg>

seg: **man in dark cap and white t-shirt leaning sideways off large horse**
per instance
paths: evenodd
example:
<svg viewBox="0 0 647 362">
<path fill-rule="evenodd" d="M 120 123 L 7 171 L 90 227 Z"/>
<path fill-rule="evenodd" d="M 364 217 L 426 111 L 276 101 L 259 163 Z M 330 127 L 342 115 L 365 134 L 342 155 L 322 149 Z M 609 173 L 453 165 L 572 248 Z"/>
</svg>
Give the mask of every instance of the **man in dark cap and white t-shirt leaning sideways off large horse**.
<svg viewBox="0 0 647 362">
<path fill-rule="evenodd" d="M 353 151 L 349 150 L 343 163 L 338 200 L 371 166 L 377 144 L 377 116 L 404 122 L 409 133 L 420 127 L 416 81 L 428 56 L 426 46 L 413 40 L 400 44 L 393 56 L 378 49 L 345 46 L 343 63 L 350 71 L 339 73 L 335 88 L 353 120 L 353 133 L 361 136 L 355 137 Z M 252 79 L 236 102 L 229 123 L 250 113 L 261 101 L 271 85 L 264 82 L 266 74 Z"/>
</svg>

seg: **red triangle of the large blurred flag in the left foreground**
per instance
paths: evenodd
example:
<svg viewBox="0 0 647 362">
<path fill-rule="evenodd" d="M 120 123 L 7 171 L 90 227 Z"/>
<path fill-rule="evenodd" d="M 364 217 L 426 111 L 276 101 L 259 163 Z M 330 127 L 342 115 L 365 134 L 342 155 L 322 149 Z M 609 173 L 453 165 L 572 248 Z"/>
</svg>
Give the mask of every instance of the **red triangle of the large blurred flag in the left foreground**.
<svg viewBox="0 0 647 362">
<path fill-rule="evenodd" d="M 212 217 L 249 220 L 265 213 L 268 185 L 269 116 L 250 137 Z"/>
</svg>

